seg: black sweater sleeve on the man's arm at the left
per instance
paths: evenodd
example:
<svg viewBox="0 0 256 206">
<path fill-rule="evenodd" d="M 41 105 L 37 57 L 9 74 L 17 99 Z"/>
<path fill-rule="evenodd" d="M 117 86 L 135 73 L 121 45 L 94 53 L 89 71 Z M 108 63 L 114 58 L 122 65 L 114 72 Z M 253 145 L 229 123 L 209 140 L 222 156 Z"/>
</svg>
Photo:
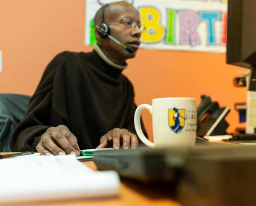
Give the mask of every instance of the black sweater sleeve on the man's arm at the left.
<svg viewBox="0 0 256 206">
<path fill-rule="evenodd" d="M 57 68 L 66 58 L 67 52 L 57 55 L 47 66 L 35 94 L 28 104 L 25 117 L 14 130 L 10 139 L 12 151 L 36 150 L 41 135 L 52 126 L 53 80 Z M 56 116 L 56 115 L 55 115 Z M 55 117 L 56 118 L 56 117 Z M 63 124 L 58 118 L 58 125 Z"/>
</svg>

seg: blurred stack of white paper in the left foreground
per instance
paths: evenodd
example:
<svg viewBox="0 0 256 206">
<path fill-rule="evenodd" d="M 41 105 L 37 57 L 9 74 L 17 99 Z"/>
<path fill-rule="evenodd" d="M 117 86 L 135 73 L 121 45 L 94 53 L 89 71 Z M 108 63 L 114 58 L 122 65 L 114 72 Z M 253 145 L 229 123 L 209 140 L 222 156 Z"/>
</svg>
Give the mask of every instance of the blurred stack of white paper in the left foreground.
<svg viewBox="0 0 256 206">
<path fill-rule="evenodd" d="M 4 159 L 0 169 L 0 204 L 116 196 L 119 185 L 115 171 L 95 172 L 73 155 Z"/>
</svg>

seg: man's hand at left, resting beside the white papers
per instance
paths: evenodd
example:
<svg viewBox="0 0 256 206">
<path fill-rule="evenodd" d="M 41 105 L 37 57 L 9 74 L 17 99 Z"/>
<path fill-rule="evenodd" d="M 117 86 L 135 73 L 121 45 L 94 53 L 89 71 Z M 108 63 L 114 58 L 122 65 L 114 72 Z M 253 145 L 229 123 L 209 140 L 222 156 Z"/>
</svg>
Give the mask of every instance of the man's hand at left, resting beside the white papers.
<svg viewBox="0 0 256 206">
<path fill-rule="evenodd" d="M 68 154 L 80 155 L 78 140 L 69 129 L 64 125 L 49 128 L 46 133 L 41 136 L 41 140 L 36 147 L 36 150 L 41 155 L 65 155 Z"/>
</svg>

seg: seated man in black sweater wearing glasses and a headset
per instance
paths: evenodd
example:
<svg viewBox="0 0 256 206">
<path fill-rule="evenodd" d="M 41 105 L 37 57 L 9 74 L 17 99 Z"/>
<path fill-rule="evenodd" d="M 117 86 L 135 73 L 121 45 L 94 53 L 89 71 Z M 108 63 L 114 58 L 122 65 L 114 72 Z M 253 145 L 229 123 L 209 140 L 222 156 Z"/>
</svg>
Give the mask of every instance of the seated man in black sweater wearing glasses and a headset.
<svg viewBox="0 0 256 206">
<path fill-rule="evenodd" d="M 103 21 L 111 36 L 132 47 L 130 54 L 97 32 L 101 12 L 102 8 L 95 15 L 98 44 L 93 52 L 63 52 L 47 66 L 23 121 L 13 132 L 12 151 L 36 149 L 42 155 L 66 151 L 79 156 L 80 148 L 138 147 L 133 87 L 122 71 L 139 48 L 139 13 L 126 2 L 104 7 Z"/>
</svg>

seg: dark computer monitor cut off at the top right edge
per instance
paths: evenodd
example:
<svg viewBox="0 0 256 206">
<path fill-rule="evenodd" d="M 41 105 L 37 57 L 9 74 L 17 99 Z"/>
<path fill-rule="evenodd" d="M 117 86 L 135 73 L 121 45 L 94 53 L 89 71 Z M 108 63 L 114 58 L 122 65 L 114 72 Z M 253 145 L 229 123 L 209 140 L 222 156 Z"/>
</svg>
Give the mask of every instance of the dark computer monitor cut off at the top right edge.
<svg viewBox="0 0 256 206">
<path fill-rule="evenodd" d="M 256 1 L 228 1 L 227 63 L 249 68 L 247 88 L 256 91 Z"/>
</svg>

